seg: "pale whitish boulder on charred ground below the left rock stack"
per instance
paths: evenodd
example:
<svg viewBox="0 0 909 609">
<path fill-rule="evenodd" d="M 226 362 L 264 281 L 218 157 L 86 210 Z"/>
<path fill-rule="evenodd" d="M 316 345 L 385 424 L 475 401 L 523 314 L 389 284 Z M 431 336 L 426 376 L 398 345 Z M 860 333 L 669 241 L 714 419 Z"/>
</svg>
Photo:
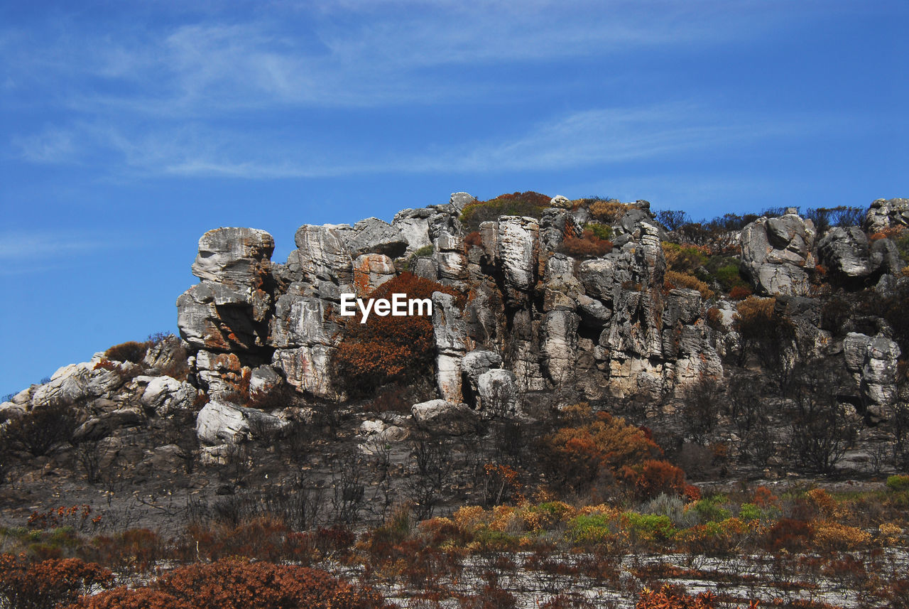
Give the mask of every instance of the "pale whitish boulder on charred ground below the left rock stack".
<svg viewBox="0 0 909 609">
<path fill-rule="evenodd" d="M 195 418 L 195 434 L 205 444 L 236 444 L 251 435 L 274 437 L 287 422 L 272 414 L 230 402 L 212 400 Z"/>
</svg>

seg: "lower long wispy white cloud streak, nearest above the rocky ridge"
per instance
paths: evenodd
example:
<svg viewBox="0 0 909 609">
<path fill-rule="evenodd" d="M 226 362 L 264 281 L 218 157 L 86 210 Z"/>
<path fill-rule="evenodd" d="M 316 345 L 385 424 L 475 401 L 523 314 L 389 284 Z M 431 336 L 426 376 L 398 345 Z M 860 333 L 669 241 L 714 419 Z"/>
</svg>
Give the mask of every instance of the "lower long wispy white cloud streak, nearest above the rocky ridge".
<svg viewBox="0 0 909 609">
<path fill-rule="evenodd" d="M 819 120 L 819 119 L 818 119 Z M 45 132 L 20 142 L 32 160 L 61 162 L 47 151 L 57 141 L 77 139 L 85 150 L 112 157 L 123 175 L 222 176 L 245 179 L 333 177 L 376 172 L 435 173 L 564 169 L 629 163 L 685 151 L 722 149 L 767 138 L 804 135 L 817 120 L 773 121 L 718 115 L 694 104 L 644 108 L 597 108 L 541 121 L 520 134 L 497 135 L 444 150 L 387 149 L 375 160 L 355 150 L 321 151 L 293 135 L 213 129 L 205 124 L 155 133 L 130 133 L 105 124 L 82 124 L 76 135 Z M 64 146 L 72 152 L 72 146 Z M 301 151 L 319 150 L 305 157 Z M 35 152 L 37 151 L 37 152 Z M 38 154 L 41 153 L 41 154 Z M 362 156 L 362 155 L 361 155 Z M 288 161 L 287 159 L 296 159 Z M 352 160 L 353 159 L 353 160 Z M 75 157 L 74 157 L 75 162 Z"/>
</svg>

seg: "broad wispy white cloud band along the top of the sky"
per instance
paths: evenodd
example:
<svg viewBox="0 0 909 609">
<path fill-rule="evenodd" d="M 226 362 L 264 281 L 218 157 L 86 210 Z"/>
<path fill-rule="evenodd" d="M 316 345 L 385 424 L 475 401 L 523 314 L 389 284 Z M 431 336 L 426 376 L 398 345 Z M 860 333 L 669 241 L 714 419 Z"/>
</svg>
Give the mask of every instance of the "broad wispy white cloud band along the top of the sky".
<svg viewBox="0 0 909 609">
<path fill-rule="evenodd" d="M 53 35 L 45 45 L 35 48 L 29 36 L 6 31 L 0 46 L 11 82 L 46 88 L 51 103 L 77 112 L 430 104 L 501 86 L 446 66 L 742 40 L 778 22 L 770 10 L 776 4 L 325 3 L 302 13 L 285 9 L 284 20 L 206 17 L 157 29 L 122 23 L 105 35 L 64 20 L 48 28 Z"/>
</svg>

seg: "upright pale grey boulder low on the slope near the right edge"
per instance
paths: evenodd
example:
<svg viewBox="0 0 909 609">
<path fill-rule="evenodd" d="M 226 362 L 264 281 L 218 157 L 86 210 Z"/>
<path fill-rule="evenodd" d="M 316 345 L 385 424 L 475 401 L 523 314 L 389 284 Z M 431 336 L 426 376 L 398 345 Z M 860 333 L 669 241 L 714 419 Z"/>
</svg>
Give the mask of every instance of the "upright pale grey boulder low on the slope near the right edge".
<svg viewBox="0 0 909 609">
<path fill-rule="evenodd" d="M 899 345 L 884 336 L 850 332 L 843 341 L 843 354 L 867 411 L 874 416 L 890 416 L 897 396 Z"/>
</svg>

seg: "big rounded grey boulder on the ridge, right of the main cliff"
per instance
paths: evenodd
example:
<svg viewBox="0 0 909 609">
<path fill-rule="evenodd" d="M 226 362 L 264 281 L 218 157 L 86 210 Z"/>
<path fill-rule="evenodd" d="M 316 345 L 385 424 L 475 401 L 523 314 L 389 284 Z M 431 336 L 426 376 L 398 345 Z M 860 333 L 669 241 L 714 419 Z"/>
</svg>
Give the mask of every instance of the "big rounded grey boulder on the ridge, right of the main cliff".
<svg viewBox="0 0 909 609">
<path fill-rule="evenodd" d="M 806 295 L 814 268 L 814 223 L 795 213 L 762 217 L 742 230 L 742 265 L 764 295 Z"/>
</svg>

